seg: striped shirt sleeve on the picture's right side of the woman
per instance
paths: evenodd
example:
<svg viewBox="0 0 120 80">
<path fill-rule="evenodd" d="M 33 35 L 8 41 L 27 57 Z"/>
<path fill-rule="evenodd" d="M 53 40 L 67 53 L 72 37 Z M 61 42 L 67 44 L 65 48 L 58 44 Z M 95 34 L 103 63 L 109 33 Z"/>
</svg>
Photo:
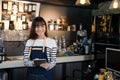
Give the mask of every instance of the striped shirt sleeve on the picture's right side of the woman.
<svg viewBox="0 0 120 80">
<path fill-rule="evenodd" d="M 53 46 L 50 50 L 50 62 L 48 70 L 52 69 L 56 65 L 56 53 L 57 53 L 57 44 L 55 40 L 53 40 Z"/>
</svg>

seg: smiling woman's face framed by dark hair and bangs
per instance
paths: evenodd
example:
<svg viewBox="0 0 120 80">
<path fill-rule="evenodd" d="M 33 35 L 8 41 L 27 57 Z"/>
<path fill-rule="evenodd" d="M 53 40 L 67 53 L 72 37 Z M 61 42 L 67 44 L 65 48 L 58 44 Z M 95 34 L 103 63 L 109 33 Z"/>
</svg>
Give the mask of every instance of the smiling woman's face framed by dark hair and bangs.
<svg viewBox="0 0 120 80">
<path fill-rule="evenodd" d="M 37 25 L 35 28 L 36 34 L 38 35 L 38 37 L 44 37 L 45 36 L 45 32 L 46 32 L 46 26 L 45 25 Z"/>
</svg>

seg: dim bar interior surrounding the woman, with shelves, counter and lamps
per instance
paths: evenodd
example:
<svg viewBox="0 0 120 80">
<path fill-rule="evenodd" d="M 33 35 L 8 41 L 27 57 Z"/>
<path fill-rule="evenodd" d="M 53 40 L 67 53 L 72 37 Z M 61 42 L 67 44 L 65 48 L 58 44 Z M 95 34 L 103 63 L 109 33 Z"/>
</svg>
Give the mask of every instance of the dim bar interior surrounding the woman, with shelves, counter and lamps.
<svg viewBox="0 0 120 80">
<path fill-rule="evenodd" d="M 26 80 L 37 16 L 58 46 L 53 80 L 120 80 L 120 0 L 0 0 L 0 80 Z"/>
</svg>

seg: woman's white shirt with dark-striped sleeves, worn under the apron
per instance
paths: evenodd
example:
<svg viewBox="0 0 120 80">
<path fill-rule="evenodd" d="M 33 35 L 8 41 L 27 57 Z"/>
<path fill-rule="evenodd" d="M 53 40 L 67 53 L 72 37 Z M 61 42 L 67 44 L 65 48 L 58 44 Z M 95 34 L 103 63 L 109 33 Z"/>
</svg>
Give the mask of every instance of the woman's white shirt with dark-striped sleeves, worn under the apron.
<svg viewBox="0 0 120 80">
<path fill-rule="evenodd" d="M 28 66 L 28 67 L 34 66 L 32 64 L 32 61 L 30 61 L 30 58 L 29 58 L 30 47 L 32 46 L 33 41 L 34 40 L 29 39 L 26 42 L 25 49 L 24 49 L 24 64 L 25 66 Z M 33 46 L 41 47 L 43 46 L 43 41 L 44 39 L 36 39 Z M 46 38 L 45 47 L 46 47 L 46 53 L 47 53 L 47 58 L 49 63 L 48 70 L 50 70 L 56 65 L 57 44 L 54 39 Z"/>
</svg>

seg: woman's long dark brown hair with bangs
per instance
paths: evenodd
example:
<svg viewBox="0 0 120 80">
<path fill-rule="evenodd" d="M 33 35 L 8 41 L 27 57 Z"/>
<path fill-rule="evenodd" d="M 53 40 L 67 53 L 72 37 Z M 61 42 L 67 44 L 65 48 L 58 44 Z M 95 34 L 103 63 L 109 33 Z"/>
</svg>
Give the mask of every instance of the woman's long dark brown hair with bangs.
<svg viewBox="0 0 120 80">
<path fill-rule="evenodd" d="M 47 37 L 47 24 L 46 21 L 42 18 L 42 17 L 36 17 L 33 22 L 32 22 L 32 26 L 31 26 L 31 30 L 30 30 L 30 35 L 28 37 L 28 39 L 37 39 L 38 35 L 35 32 L 35 28 L 36 26 L 38 26 L 39 24 L 41 25 L 45 25 L 46 31 L 45 31 L 45 36 Z"/>
</svg>

